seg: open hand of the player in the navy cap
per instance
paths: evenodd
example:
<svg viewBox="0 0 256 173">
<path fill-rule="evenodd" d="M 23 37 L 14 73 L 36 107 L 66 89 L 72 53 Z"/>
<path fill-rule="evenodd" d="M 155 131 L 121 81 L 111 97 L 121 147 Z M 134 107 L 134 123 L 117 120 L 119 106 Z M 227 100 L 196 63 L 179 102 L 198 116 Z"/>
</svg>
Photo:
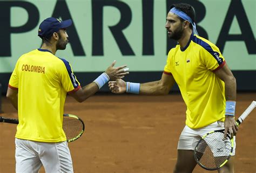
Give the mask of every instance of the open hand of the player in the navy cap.
<svg viewBox="0 0 256 173">
<path fill-rule="evenodd" d="M 107 75 L 109 75 L 110 81 L 116 81 L 118 78 L 124 78 L 125 75 L 129 74 L 129 72 L 124 69 L 125 66 L 114 67 L 116 61 L 114 61 L 105 71 Z"/>
</svg>

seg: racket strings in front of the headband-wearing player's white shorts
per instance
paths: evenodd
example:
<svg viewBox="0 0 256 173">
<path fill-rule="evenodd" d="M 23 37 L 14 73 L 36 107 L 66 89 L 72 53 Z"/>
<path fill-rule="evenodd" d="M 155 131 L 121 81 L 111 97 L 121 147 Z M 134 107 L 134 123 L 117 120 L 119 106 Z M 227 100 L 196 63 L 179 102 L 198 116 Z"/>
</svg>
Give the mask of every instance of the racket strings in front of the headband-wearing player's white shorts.
<svg viewBox="0 0 256 173">
<path fill-rule="evenodd" d="M 204 167 L 218 168 L 230 157 L 231 140 L 228 138 L 223 141 L 223 135 L 223 132 L 210 133 L 198 143 L 195 156 Z"/>
</svg>

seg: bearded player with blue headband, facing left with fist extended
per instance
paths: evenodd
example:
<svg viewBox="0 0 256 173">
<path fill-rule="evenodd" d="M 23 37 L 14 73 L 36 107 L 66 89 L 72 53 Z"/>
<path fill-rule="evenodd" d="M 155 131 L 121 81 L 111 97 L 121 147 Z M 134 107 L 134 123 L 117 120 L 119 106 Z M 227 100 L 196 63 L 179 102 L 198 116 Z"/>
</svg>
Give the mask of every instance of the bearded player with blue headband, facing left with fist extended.
<svg viewBox="0 0 256 173">
<path fill-rule="evenodd" d="M 197 164 L 194 147 L 207 132 L 225 128 L 225 137 L 229 132 L 233 138 L 238 130 L 234 120 L 235 78 L 219 48 L 199 37 L 194 18 L 191 5 L 171 6 L 165 27 L 169 38 L 177 40 L 178 44 L 170 50 L 159 81 L 142 84 L 123 80 L 109 82 L 113 93 L 140 95 L 167 95 L 173 84 L 178 84 L 187 111 L 174 172 L 193 171 Z M 233 164 L 234 157 L 219 172 L 234 172 Z"/>
</svg>

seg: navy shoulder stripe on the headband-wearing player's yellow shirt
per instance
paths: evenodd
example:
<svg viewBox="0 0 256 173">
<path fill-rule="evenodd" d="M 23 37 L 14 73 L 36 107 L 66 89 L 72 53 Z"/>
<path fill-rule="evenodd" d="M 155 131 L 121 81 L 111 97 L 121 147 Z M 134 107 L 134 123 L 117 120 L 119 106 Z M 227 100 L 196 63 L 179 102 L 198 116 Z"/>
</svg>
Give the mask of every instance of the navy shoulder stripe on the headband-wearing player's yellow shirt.
<svg viewBox="0 0 256 173">
<path fill-rule="evenodd" d="M 219 57 L 220 56 L 219 52 L 213 51 L 212 47 L 209 44 L 207 44 L 207 42 L 197 38 L 194 35 L 192 37 L 192 41 L 202 46 L 208 53 L 210 53 L 214 57 L 214 59 L 217 60 L 219 65 L 223 63 L 223 58 Z"/>
</svg>

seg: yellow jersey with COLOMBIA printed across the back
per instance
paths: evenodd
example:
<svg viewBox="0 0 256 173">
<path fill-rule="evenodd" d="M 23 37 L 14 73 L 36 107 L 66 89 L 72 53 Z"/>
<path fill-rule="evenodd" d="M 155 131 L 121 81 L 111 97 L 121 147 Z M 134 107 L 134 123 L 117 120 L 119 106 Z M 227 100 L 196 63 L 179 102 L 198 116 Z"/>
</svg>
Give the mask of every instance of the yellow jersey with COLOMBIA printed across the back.
<svg viewBox="0 0 256 173">
<path fill-rule="evenodd" d="M 26 53 L 16 63 L 9 88 L 18 89 L 16 138 L 39 142 L 66 140 L 62 129 L 66 93 L 80 88 L 68 61 L 45 49 Z"/>
</svg>

